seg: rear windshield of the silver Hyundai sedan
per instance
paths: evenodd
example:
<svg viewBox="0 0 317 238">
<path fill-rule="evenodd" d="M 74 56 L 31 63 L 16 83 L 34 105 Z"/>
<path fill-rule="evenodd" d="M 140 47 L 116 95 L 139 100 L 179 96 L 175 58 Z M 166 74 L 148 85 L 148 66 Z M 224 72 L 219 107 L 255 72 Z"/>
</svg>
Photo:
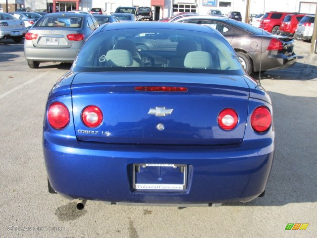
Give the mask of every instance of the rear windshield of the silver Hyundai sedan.
<svg viewBox="0 0 317 238">
<path fill-rule="evenodd" d="M 36 24 L 36 27 L 81 27 L 81 17 L 42 17 Z"/>
</svg>

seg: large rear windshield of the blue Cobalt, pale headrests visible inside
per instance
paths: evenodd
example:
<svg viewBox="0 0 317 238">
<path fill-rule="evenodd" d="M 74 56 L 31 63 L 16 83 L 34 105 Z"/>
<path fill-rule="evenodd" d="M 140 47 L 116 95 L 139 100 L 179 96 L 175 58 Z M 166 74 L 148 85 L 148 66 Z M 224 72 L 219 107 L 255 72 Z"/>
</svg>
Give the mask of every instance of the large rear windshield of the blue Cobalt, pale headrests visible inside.
<svg viewBox="0 0 317 238">
<path fill-rule="evenodd" d="M 220 35 L 149 28 L 95 33 L 71 70 L 245 74 L 235 51 Z"/>
</svg>

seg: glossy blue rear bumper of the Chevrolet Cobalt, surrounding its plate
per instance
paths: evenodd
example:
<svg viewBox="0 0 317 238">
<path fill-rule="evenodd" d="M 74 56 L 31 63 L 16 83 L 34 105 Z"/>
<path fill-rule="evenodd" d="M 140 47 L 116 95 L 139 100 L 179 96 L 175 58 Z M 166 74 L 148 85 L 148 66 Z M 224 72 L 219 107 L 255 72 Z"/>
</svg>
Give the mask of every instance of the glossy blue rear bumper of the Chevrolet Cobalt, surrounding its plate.
<svg viewBox="0 0 317 238">
<path fill-rule="evenodd" d="M 266 187 L 274 141 L 232 146 L 146 146 L 78 142 L 44 132 L 50 184 L 71 199 L 147 204 L 249 202 Z M 133 164 L 185 164 L 186 189 L 133 189 Z"/>
</svg>

